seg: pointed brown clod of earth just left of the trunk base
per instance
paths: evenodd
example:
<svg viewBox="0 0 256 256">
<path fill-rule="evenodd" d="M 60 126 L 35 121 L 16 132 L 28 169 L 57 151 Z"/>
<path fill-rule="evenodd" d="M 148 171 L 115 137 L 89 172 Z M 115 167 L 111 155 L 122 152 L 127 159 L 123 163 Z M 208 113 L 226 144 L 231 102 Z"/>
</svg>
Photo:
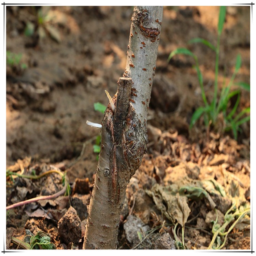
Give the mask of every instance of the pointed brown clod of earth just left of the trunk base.
<svg viewBox="0 0 256 256">
<path fill-rule="evenodd" d="M 59 236 L 66 244 L 78 244 L 82 236 L 81 220 L 76 210 L 71 206 L 58 222 Z"/>
</svg>

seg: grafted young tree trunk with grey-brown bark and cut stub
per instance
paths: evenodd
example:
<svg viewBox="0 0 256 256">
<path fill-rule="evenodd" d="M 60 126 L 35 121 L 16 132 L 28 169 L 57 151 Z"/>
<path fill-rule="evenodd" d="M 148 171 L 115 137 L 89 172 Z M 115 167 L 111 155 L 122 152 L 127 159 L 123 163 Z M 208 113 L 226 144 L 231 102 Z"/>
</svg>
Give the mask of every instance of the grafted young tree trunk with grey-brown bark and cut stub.
<svg viewBox="0 0 256 256">
<path fill-rule="evenodd" d="M 116 249 L 120 211 L 147 144 L 146 117 L 156 69 L 162 6 L 135 6 L 115 109 L 102 120 L 101 151 L 88 208 L 84 249 Z"/>
</svg>

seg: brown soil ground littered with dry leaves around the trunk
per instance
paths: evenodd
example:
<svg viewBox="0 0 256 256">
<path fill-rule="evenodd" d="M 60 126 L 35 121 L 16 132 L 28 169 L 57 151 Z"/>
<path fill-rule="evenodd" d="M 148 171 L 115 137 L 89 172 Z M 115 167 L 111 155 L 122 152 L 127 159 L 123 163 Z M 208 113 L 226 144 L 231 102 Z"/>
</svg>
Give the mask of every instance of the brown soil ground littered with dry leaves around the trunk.
<svg viewBox="0 0 256 256">
<path fill-rule="evenodd" d="M 49 234 L 57 249 L 79 249 L 87 219 L 83 209 L 89 204 L 97 166 L 94 145 L 100 134 L 99 129 L 86 125 L 86 120 L 101 123 L 103 114 L 94 110 L 94 103 L 108 104 L 104 90 L 112 96 L 116 93 L 118 78 L 125 69 L 133 8 L 44 7 L 43 13 L 50 17 L 45 23 L 39 22 L 41 11 L 40 7 L 31 6 L 6 8 L 6 50 L 22 54 L 19 63 L 6 68 L 6 170 L 29 175 L 51 169 L 67 171 L 71 195 L 9 210 L 6 248 L 20 249 L 12 237 L 23 240 L 27 229 L 34 235 L 38 231 Z M 177 47 L 187 47 L 195 53 L 210 102 L 215 53 L 202 44 L 188 45 L 188 41 L 200 37 L 216 45 L 218 13 L 216 6 L 164 8 L 148 110 L 147 153 L 127 188 L 119 249 L 179 246 L 182 225 L 175 233 L 176 221 L 171 221 L 173 215 L 168 210 L 172 199 L 165 199 L 171 197 L 165 190 L 168 186 L 201 186 L 217 205 L 223 222 L 233 200 L 237 209 L 250 205 L 250 122 L 241 125 L 237 141 L 232 132 L 223 132 L 221 116 L 215 127 L 205 127 L 200 119 L 190 130 L 192 114 L 203 105 L 193 58 L 177 55 L 167 62 Z M 25 35 L 28 24 L 34 26 L 30 36 Z M 223 83 L 231 79 L 237 54 L 241 54 L 242 66 L 235 82 L 250 84 L 250 8 L 229 6 L 221 36 L 219 92 Z M 236 97 L 230 102 L 232 109 Z M 241 89 L 238 112 L 248 106 L 250 92 Z M 6 205 L 52 195 L 61 189 L 56 173 L 36 181 L 8 176 Z M 176 196 L 173 200 L 181 202 Z M 213 237 L 216 213 L 209 198 L 182 198 L 187 198 L 183 203 L 189 210 L 184 228 L 185 248 L 205 249 Z M 183 214 L 185 218 L 185 208 Z M 127 225 L 134 218 L 136 221 Z M 250 250 L 248 218 L 245 215 L 232 229 L 223 249 Z M 67 227 L 73 230 L 72 236 L 67 235 Z M 137 232 L 141 232 L 141 237 Z"/>
</svg>

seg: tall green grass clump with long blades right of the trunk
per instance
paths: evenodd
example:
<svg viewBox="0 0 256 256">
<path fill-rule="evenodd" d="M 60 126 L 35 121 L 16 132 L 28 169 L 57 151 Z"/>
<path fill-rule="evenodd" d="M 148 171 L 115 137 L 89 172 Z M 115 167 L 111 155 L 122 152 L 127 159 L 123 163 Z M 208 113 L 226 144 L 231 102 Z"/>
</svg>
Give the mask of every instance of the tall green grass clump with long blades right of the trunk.
<svg viewBox="0 0 256 256">
<path fill-rule="evenodd" d="M 193 125 L 196 123 L 196 121 L 203 115 L 204 117 L 204 123 L 205 126 L 209 126 L 212 124 L 215 126 L 217 124 L 218 118 L 220 114 L 223 115 L 224 118 L 224 131 L 232 130 L 234 138 L 237 140 L 237 133 L 238 131 L 241 131 L 240 125 L 250 120 L 250 107 L 243 109 L 240 113 L 238 113 L 236 116 L 234 116 L 237 112 L 237 108 L 240 102 L 240 89 L 231 91 L 231 86 L 238 85 L 239 87 L 250 91 L 250 85 L 244 83 L 244 82 L 238 82 L 234 83 L 234 79 L 241 67 L 241 55 L 237 55 L 236 59 L 236 66 L 234 73 L 228 83 L 227 86 L 223 86 L 221 94 L 219 95 L 219 98 L 217 98 L 218 94 L 218 68 L 219 68 L 219 46 L 220 46 L 220 38 L 221 33 L 223 30 L 223 25 L 225 21 L 226 16 L 226 7 L 221 6 L 219 11 L 219 22 L 218 22 L 218 36 L 217 36 L 217 46 L 215 47 L 213 44 L 211 44 L 209 41 L 202 39 L 202 38 L 195 38 L 190 40 L 188 43 L 202 43 L 211 48 L 216 53 L 216 60 L 215 60 L 215 80 L 214 80 L 214 96 L 212 102 L 208 103 L 208 100 L 205 96 L 205 91 L 203 87 L 203 75 L 199 68 L 198 58 L 197 56 L 189 51 L 187 48 L 177 48 L 174 51 L 172 51 L 168 57 L 168 62 L 170 59 L 177 55 L 177 54 L 183 54 L 188 55 L 194 58 L 195 60 L 195 69 L 197 71 L 198 81 L 201 88 L 201 96 L 204 102 L 204 106 L 200 106 L 196 111 L 193 113 L 191 117 L 190 122 L 190 129 L 193 127 Z M 231 111 L 228 112 L 229 107 L 229 100 L 236 96 L 237 100 L 234 104 Z M 249 114 L 249 115 L 246 115 Z"/>
</svg>

